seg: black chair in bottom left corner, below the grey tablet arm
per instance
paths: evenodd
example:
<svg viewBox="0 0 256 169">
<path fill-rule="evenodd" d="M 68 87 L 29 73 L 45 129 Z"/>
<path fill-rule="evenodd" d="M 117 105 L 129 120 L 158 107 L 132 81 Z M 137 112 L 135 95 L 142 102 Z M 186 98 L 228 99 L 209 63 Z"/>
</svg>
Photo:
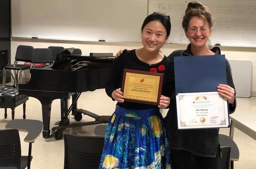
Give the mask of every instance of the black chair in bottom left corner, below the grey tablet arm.
<svg viewBox="0 0 256 169">
<path fill-rule="evenodd" d="M 28 156 L 21 156 L 20 135 L 18 130 L 0 130 L 0 169 L 16 167 L 25 169 Z"/>
</svg>

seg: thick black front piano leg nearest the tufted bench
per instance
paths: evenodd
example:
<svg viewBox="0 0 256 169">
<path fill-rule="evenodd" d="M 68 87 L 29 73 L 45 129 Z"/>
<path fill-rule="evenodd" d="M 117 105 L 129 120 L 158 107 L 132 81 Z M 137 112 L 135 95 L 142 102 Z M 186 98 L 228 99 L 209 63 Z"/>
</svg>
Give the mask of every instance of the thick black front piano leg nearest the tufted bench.
<svg viewBox="0 0 256 169">
<path fill-rule="evenodd" d="M 52 100 L 40 100 L 42 104 L 43 113 L 43 137 L 50 136 L 50 119 L 51 119 L 51 107 Z"/>
</svg>

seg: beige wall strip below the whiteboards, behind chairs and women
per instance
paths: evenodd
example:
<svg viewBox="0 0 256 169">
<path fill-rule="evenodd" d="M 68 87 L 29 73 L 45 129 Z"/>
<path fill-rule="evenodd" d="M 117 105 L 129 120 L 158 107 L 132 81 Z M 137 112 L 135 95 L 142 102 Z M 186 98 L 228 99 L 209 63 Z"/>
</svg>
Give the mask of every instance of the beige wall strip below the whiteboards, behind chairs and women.
<svg viewBox="0 0 256 169">
<path fill-rule="evenodd" d="M 15 53 L 18 45 L 30 45 L 34 48 L 47 48 L 48 46 L 63 46 L 65 48 L 75 47 L 82 50 L 82 54 L 90 52 L 106 52 L 116 53 L 121 48 L 139 48 L 140 43 L 125 43 L 125 42 L 84 42 L 84 41 L 62 41 L 62 40 L 47 40 L 47 39 L 24 39 L 12 38 L 11 40 L 11 63 L 14 62 Z M 184 49 L 186 45 L 165 44 L 162 52 L 169 55 L 175 49 Z M 225 54 L 227 59 L 232 60 L 250 60 L 252 62 L 252 84 L 251 95 L 256 95 L 256 48 L 247 47 L 221 47 L 221 54 Z M 242 71 L 242 70 L 241 70 Z"/>
</svg>

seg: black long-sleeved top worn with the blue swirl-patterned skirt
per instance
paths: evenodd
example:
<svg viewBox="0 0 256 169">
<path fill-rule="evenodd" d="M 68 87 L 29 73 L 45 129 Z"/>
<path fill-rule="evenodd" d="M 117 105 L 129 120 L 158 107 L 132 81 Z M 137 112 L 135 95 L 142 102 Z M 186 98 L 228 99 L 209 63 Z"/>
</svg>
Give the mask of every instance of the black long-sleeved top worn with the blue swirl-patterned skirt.
<svg viewBox="0 0 256 169">
<path fill-rule="evenodd" d="M 164 56 L 163 60 L 157 64 L 149 65 L 138 59 L 135 49 L 132 51 L 123 51 L 123 54 L 114 60 L 111 68 L 111 74 L 106 84 L 106 93 L 112 98 L 112 92 L 121 88 L 123 80 L 123 71 L 125 69 L 143 70 L 149 72 L 151 68 L 157 68 L 159 65 L 165 66 L 162 95 L 171 96 L 171 91 L 174 90 L 174 66 L 170 60 Z M 114 100 L 112 98 L 112 100 Z M 151 109 L 157 107 L 154 105 L 140 104 L 129 101 L 123 103 L 117 102 L 117 105 L 126 109 Z"/>
</svg>

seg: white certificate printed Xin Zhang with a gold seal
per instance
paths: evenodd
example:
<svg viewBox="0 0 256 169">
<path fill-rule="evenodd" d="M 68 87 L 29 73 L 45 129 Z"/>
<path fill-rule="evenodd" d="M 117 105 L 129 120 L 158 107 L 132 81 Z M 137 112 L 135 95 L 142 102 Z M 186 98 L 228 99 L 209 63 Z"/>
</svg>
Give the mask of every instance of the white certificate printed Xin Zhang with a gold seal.
<svg viewBox="0 0 256 169">
<path fill-rule="evenodd" d="M 227 100 L 217 92 L 176 95 L 178 129 L 229 126 Z"/>
</svg>

